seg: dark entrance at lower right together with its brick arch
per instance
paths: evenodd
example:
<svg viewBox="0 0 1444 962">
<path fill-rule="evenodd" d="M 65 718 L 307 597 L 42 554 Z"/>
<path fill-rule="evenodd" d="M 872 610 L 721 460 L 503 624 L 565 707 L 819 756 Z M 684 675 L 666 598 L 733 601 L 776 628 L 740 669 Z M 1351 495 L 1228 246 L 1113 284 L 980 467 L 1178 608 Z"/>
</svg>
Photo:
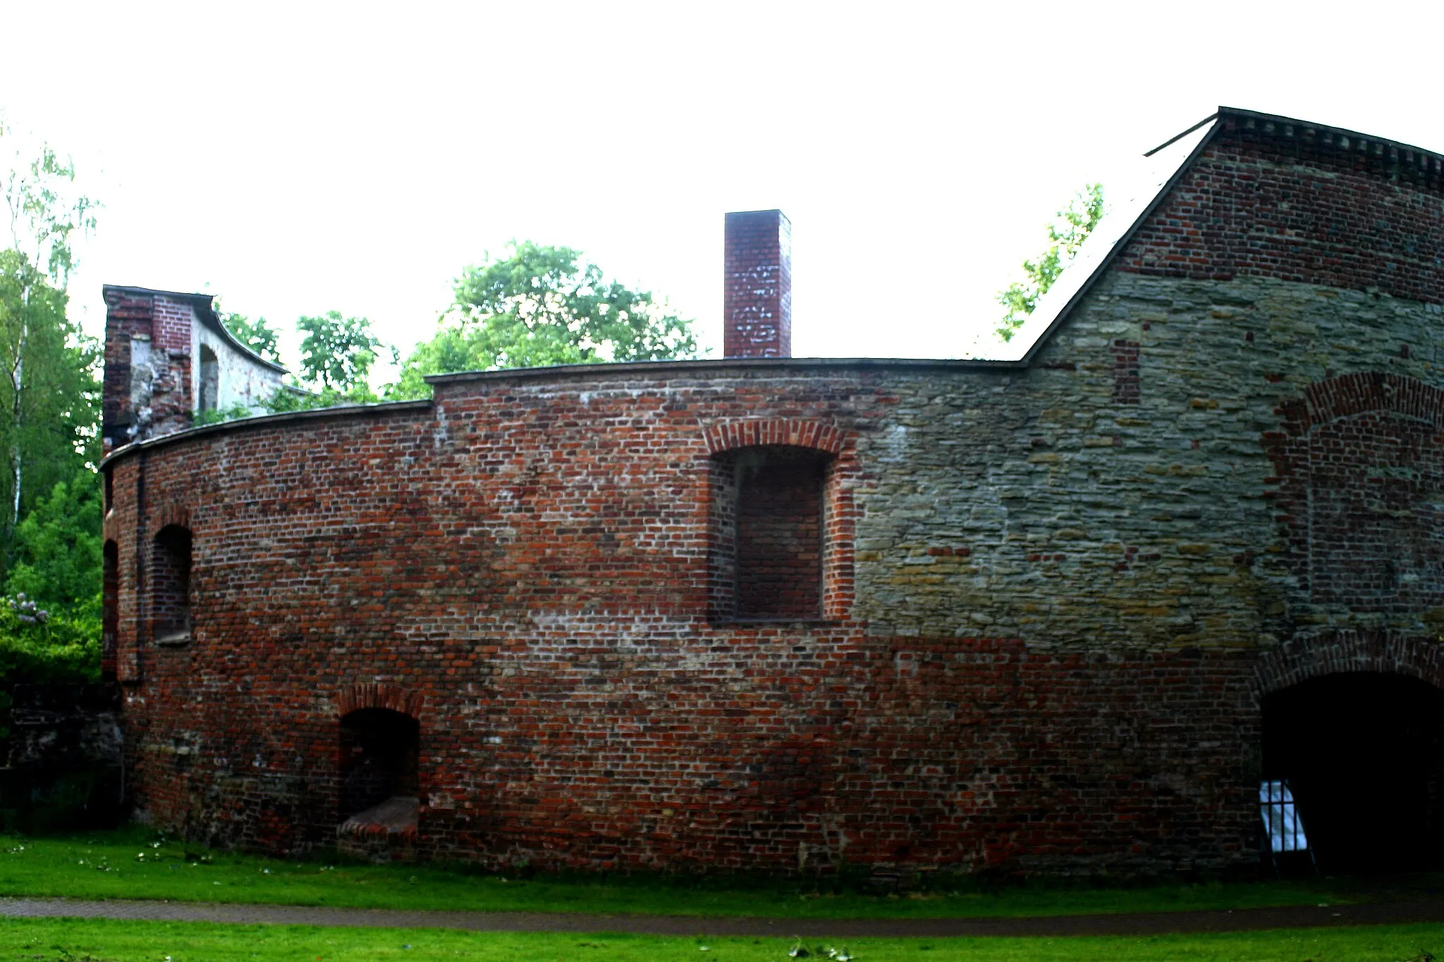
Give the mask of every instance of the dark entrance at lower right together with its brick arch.
<svg viewBox="0 0 1444 962">
<path fill-rule="evenodd" d="M 1262 776 L 1288 780 L 1323 871 L 1441 864 L 1437 652 L 1431 639 L 1337 632 L 1261 661 Z"/>
</svg>

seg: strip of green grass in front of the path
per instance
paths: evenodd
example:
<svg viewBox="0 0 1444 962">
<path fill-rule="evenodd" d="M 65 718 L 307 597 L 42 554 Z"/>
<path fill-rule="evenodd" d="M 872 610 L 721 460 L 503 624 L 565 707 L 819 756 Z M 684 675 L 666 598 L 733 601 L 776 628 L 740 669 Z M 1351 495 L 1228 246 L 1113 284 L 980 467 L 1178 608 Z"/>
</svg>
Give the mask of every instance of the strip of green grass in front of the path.
<svg viewBox="0 0 1444 962">
<path fill-rule="evenodd" d="M 809 940 L 816 946 L 817 940 Z M 823 945 L 829 945 L 826 940 Z M 576 933 L 472 933 L 435 929 L 319 929 L 199 922 L 0 920 L 0 961 L 33 962 L 344 962 L 440 959 L 556 962 L 788 962 L 786 939 L 680 939 Z M 830 943 L 840 948 L 840 943 Z M 703 946 L 706 950 L 703 952 Z M 856 962 L 1392 962 L 1444 952 L 1444 926 L 1298 929 L 1207 936 L 1073 939 L 855 939 Z M 826 955 L 812 958 L 826 959 Z"/>
</svg>

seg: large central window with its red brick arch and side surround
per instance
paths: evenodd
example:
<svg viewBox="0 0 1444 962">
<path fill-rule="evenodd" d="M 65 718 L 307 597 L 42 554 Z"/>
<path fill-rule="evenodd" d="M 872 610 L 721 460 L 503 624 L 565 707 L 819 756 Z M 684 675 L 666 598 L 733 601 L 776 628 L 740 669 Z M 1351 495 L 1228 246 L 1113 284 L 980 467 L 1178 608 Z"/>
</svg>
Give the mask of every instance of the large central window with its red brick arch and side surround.
<svg viewBox="0 0 1444 962">
<path fill-rule="evenodd" d="M 703 440 L 708 447 L 710 528 L 708 616 L 713 622 L 846 619 L 853 599 L 853 487 L 858 473 L 852 436 L 825 421 L 755 418 L 710 424 L 703 430 Z M 816 480 L 807 482 L 809 476 Z M 764 487 L 780 483 L 775 493 L 786 506 L 773 505 L 777 511 L 770 511 L 768 505 L 742 503 L 739 498 L 747 496 L 739 489 L 742 479 Z M 761 547 L 762 555 L 773 548 L 781 554 L 752 558 L 751 564 L 761 567 L 742 570 L 739 565 L 749 564 L 744 557 L 748 554 L 744 531 L 748 516 L 807 515 L 801 502 L 809 500 L 803 490 L 809 483 L 816 485 L 810 496 L 810 503 L 816 506 L 810 512 L 813 519 L 804 519 L 797 531 L 762 532 L 762 541 L 751 547 Z M 813 538 L 813 531 L 816 551 L 807 557 L 809 552 L 801 548 Z M 800 570 L 812 565 L 816 565 L 816 575 Z M 807 584 L 812 577 L 814 580 Z M 775 606 L 757 604 L 774 593 Z"/>
</svg>

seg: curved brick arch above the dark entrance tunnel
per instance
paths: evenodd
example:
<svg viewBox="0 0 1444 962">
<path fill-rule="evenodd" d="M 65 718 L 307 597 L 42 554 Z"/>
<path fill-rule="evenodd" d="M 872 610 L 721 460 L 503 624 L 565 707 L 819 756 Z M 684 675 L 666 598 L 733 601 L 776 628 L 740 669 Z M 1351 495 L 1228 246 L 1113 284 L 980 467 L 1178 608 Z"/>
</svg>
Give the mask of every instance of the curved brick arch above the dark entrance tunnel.
<svg viewBox="0 0 1444 962">
<path fill-rule="evenodd" d="M 1344 672 L 1408 675 L 1444 688 L 1444 646 L 1419 635 L 1369 630 L 1295 639 L 1259 658 L 1255 694 L 1262 701 L 1310 678 Z"/>
</svg>

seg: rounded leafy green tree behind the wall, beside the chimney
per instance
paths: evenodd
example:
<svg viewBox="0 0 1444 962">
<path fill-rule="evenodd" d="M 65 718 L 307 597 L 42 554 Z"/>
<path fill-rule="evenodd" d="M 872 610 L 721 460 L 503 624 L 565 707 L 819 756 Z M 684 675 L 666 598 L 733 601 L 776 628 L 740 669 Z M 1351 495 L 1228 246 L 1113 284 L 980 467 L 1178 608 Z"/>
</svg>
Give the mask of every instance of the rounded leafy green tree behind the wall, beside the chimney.
<svg viewBox="0 0 1444 962">
<path fill-rule="evenodd" d="M 513 241 L 505 257 L 469 267 L 456 280 L 452 309 L 436 336 L 407 358 L 391 397 L 427 397 L 427 374 L 696 352 L 692 322 L 664 301 L 605 280 L 578 251 Z"/>
</svg>

